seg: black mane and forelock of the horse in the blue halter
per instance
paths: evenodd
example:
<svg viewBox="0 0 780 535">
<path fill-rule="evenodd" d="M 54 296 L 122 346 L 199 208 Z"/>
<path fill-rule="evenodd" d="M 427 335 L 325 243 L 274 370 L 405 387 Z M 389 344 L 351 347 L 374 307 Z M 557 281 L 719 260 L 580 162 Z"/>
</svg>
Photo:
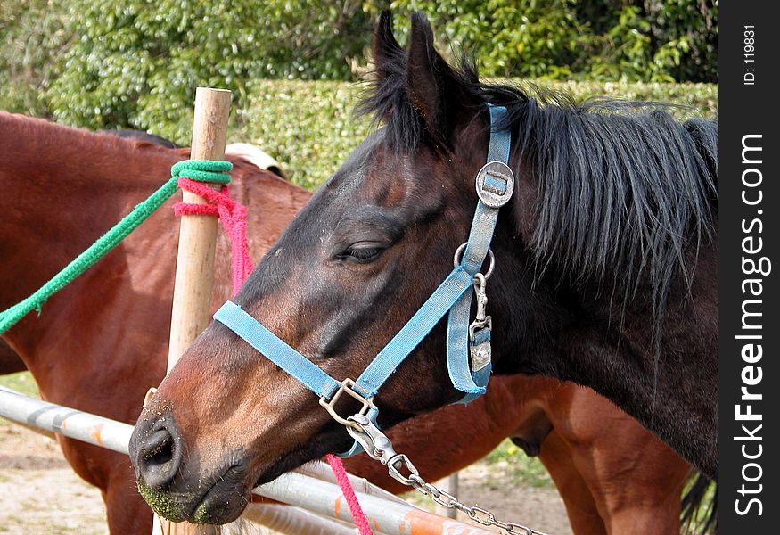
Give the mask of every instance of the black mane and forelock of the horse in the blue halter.
<svg viewBox="0 0 780 535">
<path fill-rule="evenodd" d="M 382 65 L 357 112 L 383 122 L 386 143 L 411 152 L 426 136 L 406 93 L 406 53 Z M 654 334 L 661 333 L 670 287 L 682 275 L 690 286 L 695 262 L 686 252 L 714 232 L 717 200 L 717 123 L 673 119 L 667 103 L 591 98 L 536 86 L 482 83 L 473 63 L 452 71 L 473 115 L 485 103 L 507 108 L 505 124 L 520 153 L 517 177 L 534 176 L 538 202 L 527 245 L 537 279 L 546 270 L 599 290 L 612 279 L 623 308 L 649 284 Z M 517 218 L 529 214 L 516 213 Z M 658 339 L 657 339 L 658 340 Z"/>
</svg>

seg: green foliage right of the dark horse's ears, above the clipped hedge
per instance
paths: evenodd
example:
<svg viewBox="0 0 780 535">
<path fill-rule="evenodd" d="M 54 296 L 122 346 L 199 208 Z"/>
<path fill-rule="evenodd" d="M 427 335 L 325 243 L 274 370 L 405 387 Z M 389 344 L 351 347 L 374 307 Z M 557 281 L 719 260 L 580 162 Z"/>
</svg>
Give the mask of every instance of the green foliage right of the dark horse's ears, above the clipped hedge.
<svg viewBox="0 0 780 535">
<path fill-rule="evenodd" d="M 494 77 L 715 81 L 711 0 L 395 0 L 431 17 L 439 38 Z M 404 35 L 407 22 L 396 19 Z"/>
</svg>

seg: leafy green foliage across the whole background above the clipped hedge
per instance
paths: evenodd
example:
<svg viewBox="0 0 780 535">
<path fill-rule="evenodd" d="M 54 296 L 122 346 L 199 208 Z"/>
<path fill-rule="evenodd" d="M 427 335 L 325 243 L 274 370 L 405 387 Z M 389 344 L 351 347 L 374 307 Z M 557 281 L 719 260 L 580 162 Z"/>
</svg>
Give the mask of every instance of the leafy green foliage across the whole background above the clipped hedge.
<svg viewBox="0 0 780 535">
<path fill-rule="evenodd" d="M 387 4 L 4 0 L 0 107 L 73 126 L 151 129 L 187 143 L 197 86 L 233 90 L 242 111 L 259 79 L 357 78 Z M 394 0 L 390 7 L 401 41 L 407 15 L 422 10 L 439 49 L 450 57 L 465 49 L 483 76 L 715 78 L 710 0 Z M 349 137 L 351 123 L 342 122 Z"/>
</svg>

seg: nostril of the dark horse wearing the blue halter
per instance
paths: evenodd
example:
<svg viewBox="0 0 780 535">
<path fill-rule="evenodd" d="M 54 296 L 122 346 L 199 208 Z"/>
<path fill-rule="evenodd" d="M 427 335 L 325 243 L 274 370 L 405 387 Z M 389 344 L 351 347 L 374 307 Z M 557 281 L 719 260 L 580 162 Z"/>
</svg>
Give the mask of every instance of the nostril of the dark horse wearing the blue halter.
<svg viewBox="0 0 780 535">
<path fill-rule="evenodd" d="M 147 487 L 167 486 L 176 477 L 182 463 L 181 437 L 170 418 L 166 420 L 158 421 L 145 433 L 138 433 L 143 436 L 136 436 L 135 445 L 131 448 L 135 450 L 138 475 Z"/>
</svg>

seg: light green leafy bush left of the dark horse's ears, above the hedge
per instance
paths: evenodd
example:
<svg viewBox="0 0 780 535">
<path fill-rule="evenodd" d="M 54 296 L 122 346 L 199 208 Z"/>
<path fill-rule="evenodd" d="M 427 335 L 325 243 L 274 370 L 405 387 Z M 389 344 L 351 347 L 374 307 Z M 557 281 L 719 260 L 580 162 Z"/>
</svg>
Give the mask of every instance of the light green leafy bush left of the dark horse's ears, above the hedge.
<svg viewBox="0 0 780 535">
<path fill-rule="evenodd" d="M 362 4 L 286 0 L 54 0 L 67 52 L 42 101 L 91 128 L 152 128 L 174 137 L 197 86 L 234 91 L 256 78 L 350 78 L 373 24 Z M 9 106 L 18 109 L 18 105 Z"/>
</svg>

